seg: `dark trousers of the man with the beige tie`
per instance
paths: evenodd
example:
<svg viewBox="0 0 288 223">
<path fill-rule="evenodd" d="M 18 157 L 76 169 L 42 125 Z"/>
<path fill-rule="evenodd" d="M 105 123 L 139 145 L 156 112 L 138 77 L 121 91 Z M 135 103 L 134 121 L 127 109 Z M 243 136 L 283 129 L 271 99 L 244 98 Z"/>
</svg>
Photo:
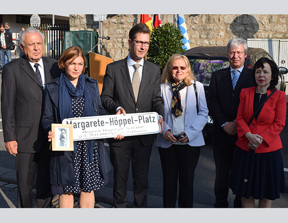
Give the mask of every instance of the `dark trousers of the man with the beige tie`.
<svg viewBox="0 0 288 223">
<path fill-rule="evenodd" d="M 147 207 L 148 168 L 152 144 L 144 146 L 140 140 L 123 142 L 123 147 L 110 146 L 110 160 L 114 167 L 113 199 L 115 207 L 125 208 L 127 199 L 127 180 L 130 160 L 132 160 L 133 206 Z"/>
</svg>

